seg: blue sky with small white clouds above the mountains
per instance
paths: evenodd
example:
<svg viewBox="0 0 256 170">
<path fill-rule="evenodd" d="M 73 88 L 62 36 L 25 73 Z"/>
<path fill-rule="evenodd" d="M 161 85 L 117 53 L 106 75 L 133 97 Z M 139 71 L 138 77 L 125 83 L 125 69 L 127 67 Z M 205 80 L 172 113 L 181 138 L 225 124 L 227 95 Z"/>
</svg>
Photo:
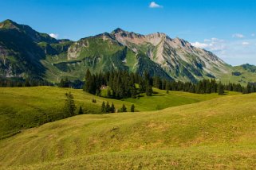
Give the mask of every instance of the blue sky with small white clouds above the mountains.
<svg viewBox="0 0 256 170">
<path fill-rule="evenodd" d="M 118 27 L 167 33 L 228 64 L 256 64 L 254 0 L 0 0 L 0 20 L 77 41 Z"/>
</svg>

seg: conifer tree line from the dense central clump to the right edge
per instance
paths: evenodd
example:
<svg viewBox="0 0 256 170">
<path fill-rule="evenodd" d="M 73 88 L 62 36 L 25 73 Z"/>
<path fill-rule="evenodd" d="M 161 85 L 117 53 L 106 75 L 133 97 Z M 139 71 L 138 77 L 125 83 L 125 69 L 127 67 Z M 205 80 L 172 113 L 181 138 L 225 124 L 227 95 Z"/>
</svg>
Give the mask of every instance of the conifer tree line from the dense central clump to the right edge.
<svg viewBox="0 0 256 170">
<path fill-rule="evenodd" d="M 139 85 L 138 88 L 136 88 L 136 84 Z M 158 76 L 150 76 L 148 72 L 144 72 L 144 75 L 128 71 L 91 74 L 89 70 L 86 71 L 85 75 L 84 91 L 93 95 L 100 95 L 100 91 L 106 88 L 106 97 L 125 99 L 136 98 L 141 93 L 151 96 L 153 94 L 152 87 L 166 91 L 186 91 L 197 94 L 219 93 L 219 95 L 224 95 L 224 91 L 256 92 L 255 83 L 248 83 L 246 87 L 242 87 L 239 83 L 223 84 L 215 79 L 203 79 L 198 83 L 184 83 L 161 79 Z"/>
</svg>

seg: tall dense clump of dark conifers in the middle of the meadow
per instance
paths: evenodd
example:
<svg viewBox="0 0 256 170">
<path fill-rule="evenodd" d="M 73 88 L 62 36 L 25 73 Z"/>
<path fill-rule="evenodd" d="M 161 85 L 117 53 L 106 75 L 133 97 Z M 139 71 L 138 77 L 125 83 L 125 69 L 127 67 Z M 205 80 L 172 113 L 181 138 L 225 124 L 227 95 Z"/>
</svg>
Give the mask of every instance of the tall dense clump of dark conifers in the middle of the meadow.
<svg viewBox="0 0 256 170">
<path fill-rule="evenodd" d="M 139 89 L 136 88 L 139 84 Z M 107 88 L 107 97 L 113 99 L 136 98 L 140 93 L 152 95 L 152 79 L 148 73 L 144 76 L 128 71 L 111 71 L 85 75 L 84 91 L 93 95 L 100 95 L 100 91 Z"/>
</svg>

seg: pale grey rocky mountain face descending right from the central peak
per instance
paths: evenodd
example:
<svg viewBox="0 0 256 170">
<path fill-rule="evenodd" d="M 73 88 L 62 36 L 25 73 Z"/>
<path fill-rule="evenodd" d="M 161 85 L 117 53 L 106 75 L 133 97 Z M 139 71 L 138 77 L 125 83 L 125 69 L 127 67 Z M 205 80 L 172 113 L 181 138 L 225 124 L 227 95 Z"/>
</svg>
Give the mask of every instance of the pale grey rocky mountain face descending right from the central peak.
<svg viewBox="0 0 256 170">
<path fill-rule="evenodd" d="M 144 52 L 176 80 L 195 82 L 203 77 L 219 77 L 229 70 L 229 66 L 213 53 L 195 48 L 182 39 L 171 39 L 164 33 L 144 36 L 116 29 L 112 35 L 134 52 Z"/>
</svg>

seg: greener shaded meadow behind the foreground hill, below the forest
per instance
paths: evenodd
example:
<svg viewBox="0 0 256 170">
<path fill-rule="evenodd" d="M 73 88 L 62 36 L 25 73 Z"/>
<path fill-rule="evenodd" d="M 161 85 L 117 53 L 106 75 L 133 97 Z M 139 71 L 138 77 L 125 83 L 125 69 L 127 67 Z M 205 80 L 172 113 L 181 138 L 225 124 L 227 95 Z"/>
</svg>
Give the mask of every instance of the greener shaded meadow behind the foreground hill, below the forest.
<svg viewBox="0 0 256 170">
<path fill-rule="evenodd" d="M 89 113 L 100 113 L 103 101 L 114 103 L 120 108 L 123 103 L 130 109 L 132 103 L 136 111 L 160 110 L 170 106 L 179 106 L 199 102 L 207 99 L 217 98 L 219 95 L 196 95 L 179 91 L 157 91 L 152 97 L 141 97 L 140 99 L 125 99 L 124 101 L 104 99 L 90 95 L 81 90 L 58 87 L 22 87 L 22 88 L 0 88 L 0 138 L 8 137 L 18 133 L 21 129 L 30 128 L 56 120 L 61 108 L 64 106 L 65 93 L 71 91 L 77 106 L 83 106 Z M 234 95 L 232 93 L 231 95 Z M 96 99 L 96 103 L 92 102 Z"/>
</svg>

